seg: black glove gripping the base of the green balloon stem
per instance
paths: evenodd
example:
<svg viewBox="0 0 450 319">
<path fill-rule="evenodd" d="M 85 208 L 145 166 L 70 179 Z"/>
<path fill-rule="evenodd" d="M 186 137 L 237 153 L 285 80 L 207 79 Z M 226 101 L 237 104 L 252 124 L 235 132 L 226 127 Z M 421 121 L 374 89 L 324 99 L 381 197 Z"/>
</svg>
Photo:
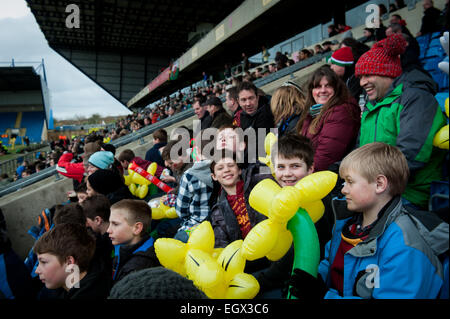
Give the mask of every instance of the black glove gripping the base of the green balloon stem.
<svg viewBox="0 0 450 319">
<path fill-rule="evenodd" d="M 325 283 L 320 275 L 317 278 L 306 271 L 295 268 L 289 280 L 291 296 L 297 299 L 322 299 L 327 291 Z"/>
</svg>

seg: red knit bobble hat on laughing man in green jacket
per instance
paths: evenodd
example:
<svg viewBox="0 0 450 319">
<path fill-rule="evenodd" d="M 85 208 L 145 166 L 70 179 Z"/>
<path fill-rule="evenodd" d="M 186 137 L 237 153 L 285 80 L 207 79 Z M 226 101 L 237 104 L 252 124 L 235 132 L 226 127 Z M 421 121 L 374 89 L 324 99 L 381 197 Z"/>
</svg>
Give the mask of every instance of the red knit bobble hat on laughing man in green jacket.
<svg viewBox="0 0 450 319">
<path fill-rule="evenodd" d="M 375 43 L 356 63 L 355 75 L 381 75 L 395 78 L 402 74 L 400 54 L 405 52 L 406 40 L 393 34 Z"/>
</svg>

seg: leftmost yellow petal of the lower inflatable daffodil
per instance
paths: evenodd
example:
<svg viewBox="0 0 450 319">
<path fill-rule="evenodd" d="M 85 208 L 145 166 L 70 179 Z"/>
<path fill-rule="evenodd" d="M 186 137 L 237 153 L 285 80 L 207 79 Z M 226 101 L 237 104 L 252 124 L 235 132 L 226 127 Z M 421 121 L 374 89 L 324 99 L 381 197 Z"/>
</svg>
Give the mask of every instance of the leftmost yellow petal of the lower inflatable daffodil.
<svg viewBox="0 0 450 319">
<path fill-rule="evenodd" d="M 155 241 L 155 253 L 164 267 L 179 273 L 179 267 L 186 258 L 186 244 L 173 238 L 158 238 Z"/>
</svg>

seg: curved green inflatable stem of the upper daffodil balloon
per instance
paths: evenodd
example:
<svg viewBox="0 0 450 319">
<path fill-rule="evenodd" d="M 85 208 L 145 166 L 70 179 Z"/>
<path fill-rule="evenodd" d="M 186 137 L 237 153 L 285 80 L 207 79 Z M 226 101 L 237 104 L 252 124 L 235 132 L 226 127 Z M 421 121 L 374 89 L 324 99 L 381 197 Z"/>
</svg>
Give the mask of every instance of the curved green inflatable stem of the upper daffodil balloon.
<svg viewBox="0 0 450 319">
<path fill-rule="evenodd" d="M 303 208 L 299 208 L 287 224 L 294 242 L 294 265 L 295 268 L 306 271 L 317 278 L 320 262 L 319 236 L 311 217 Z M 289 290 L 290 291 L 290 287 Z M 287 299 L 297 299 L 288 292 Z"/>
</svg>

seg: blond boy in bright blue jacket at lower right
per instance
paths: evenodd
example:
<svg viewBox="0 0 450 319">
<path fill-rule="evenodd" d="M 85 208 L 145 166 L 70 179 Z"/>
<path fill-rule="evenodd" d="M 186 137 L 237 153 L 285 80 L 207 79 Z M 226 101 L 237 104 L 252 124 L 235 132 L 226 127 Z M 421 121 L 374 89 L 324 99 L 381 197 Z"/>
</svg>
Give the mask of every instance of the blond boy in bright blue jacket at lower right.
<svg viewBox="0 0 450 319">
<path fill-rule="evenodd" d="M 342 200 L 333 201 L 336 223 L 319 278 L 294 270 L 291 293 L 330 299 L 439 297 L 444 277 L 448 280 L 438 257 L 448 251 L 448 224 L 403 206 L 409 169 L 402 152 L 384 143 L 366 144 L 344 158 L 339 174 L 353 215 L 339 209 Z"/>
</svg>

